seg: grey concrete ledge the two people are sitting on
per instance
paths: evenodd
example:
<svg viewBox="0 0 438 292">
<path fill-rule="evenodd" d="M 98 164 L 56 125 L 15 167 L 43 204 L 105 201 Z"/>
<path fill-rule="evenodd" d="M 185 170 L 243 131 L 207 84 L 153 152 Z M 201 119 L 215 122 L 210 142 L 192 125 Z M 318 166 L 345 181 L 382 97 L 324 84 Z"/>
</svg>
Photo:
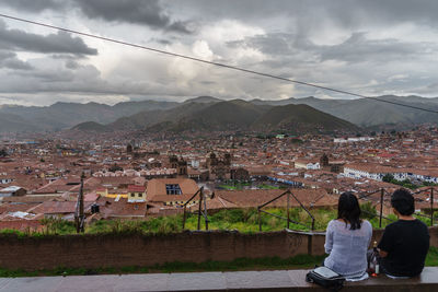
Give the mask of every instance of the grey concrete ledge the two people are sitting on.
<svg viewBox="0 0 438 292">
<path fill-rule="evenodd" d="M 0 278 L 0 292 L 327 291 L 307 283 L 304 280 L 307 272 L 307 270 L 275 270 Z M 419 277 L 406 280 L 393 280 L 381 276 L 361 282 L 347 282 L 342 291 L 438 291 L 438 268 L 425 268 Z"/>
</svg>

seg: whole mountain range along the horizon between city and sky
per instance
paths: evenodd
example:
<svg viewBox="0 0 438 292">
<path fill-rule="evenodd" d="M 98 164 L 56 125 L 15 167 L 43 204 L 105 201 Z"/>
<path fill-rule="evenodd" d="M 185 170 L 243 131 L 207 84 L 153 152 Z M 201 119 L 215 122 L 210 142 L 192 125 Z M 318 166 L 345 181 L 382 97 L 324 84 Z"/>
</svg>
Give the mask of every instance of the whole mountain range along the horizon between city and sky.
<svg viewBox="0 0 438 292">
<path fill-rule="evenodd" d="M 438 110 L 438 98 L 395 95 L 377 98 Z M 288 105 L 308 105 L 318 112 L 310 113 L 309 110 L 312 110 L 310 107 L 285 107 Z M 308 113 L 311 118 L 304 114 L 300 116 L 300 110 Z M 438 121 L 437 114 L 371 98 L 320 100 L 310 96 L 280 101 L 252 100 L 244 102 L 234 100 L 226 102 L 211 96 L 199 96 L 183 103 L 140 101 L 124 102 L 113 106 L 99 103 L 56 103 L 44 107 L 0 105 L 0 132 L 54 131 L 72 127 L 79 130 L 96 131 L 145 128 L 149 130 L 215 129 L 215 127 L 216 129 L 227 127 L 231 127 L 230 129 L 267 129 L 286 127 L 286 125 L 304 127 L 304 124 L 315 121 L 316 116 L 322 118 L 323 113 L 319 110 L 362 128 L 383 126 L 406 128 Z M 279 120 L 278 114 L 273 113 L 281 113 L 286 117 Z M 325 116 L 325 118 L 328 117 Z M 337 124 L 341 121 L 335 121 L 335 119 L 332 121 L 333 125 L 347 125 Z M 319 122 L 321 124 L 322 120 Z M 324 120 L 324 122 L 328 121 Z M 314 124 L 309 125 L 314 127 Z"/>
</svg>

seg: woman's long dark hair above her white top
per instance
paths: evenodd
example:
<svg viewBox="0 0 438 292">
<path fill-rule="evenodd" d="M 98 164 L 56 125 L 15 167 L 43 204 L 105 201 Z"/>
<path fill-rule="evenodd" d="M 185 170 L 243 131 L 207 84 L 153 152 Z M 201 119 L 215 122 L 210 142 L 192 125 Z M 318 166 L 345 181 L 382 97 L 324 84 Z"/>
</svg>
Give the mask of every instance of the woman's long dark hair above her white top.
<svg viewBox="0 0 438 292">
<path fill-rule="evenodd" d="M 346 191 L 341 195 L 337 203 L 337 219 L 345 221 L 345 226 L 350 224 L 350 230 L 359 230 L 362 221 L 360 220 L 360 207 L 355 195 Z"/>
</svg>

